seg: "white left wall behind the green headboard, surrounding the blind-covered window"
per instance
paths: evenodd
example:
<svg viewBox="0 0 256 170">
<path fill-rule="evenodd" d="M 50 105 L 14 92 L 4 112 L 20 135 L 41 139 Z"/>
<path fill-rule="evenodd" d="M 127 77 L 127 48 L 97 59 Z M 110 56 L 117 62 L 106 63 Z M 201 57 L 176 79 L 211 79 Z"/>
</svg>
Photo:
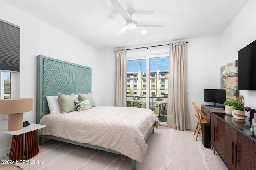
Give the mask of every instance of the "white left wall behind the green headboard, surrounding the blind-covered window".
<svg viewBox="0 0 256 170">
<path fill-rule="evenodd" d="M 48 23 L 0 1 L 0 18 L 20 26 L 20 98 L 33 98 L 33 111 L 24 121 L 36 123 L 36 56 L 44 55 L 92 68 L 92 94 L 100 105 L 101 51 Z M 0 131 L 8 120 L 0 121 Z M 9 152 L 11 135 L 0 133 L 0 156 Z"/>
</svg>

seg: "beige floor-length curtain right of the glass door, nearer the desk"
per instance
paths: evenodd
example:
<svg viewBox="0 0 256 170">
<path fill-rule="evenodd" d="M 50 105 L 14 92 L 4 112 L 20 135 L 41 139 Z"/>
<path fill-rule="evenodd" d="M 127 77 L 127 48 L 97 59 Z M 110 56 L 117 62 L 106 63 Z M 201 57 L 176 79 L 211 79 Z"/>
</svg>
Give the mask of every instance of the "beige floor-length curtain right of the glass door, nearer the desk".
<svg viewBox="0 0 256 170">
<path fill-rule="evenodd" d="M 180 131 L 190 128 L 186 94 L 186 44 L 170 43 L 167 126 Z"/>
</svg>

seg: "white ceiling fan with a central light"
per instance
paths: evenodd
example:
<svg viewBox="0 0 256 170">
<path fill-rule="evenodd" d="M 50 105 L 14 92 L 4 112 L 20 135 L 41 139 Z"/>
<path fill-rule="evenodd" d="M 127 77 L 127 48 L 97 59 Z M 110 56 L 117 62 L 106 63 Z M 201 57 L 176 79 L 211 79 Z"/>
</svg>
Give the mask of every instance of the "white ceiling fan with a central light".
<svg viewBox="0 0 256 170">
<path fill-rule="evenodd" d="M 110 0 L 110 3 L 116 8 L 116 11 L 124 18 L 126 21 L 126 26 L 119 31 L 117 31 L 114 35 L 119 35 L 126 31 L 126 29 L 134 29 L 136 27 L 163 27 L 165 22 L 136 22 L 132 20 L 132 15 L 134 14 L 134 9 L 129 9 L 128 13 L 130 14 L 130 17 L 128 14 L 126 14 L 125 10 L 122 8 L 122 6 L 119 4 L 117 0 Z"/>
</svg>

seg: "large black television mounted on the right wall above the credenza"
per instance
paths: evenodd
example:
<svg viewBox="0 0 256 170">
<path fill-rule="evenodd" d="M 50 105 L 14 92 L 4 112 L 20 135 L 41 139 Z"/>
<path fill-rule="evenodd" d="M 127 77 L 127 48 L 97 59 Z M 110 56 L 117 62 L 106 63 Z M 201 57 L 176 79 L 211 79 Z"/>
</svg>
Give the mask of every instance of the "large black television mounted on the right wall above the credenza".
<svg viewBox="0 0 256 170">
<path fill-rule="evenodd" d="M 238 51 L 238 90 L 256 90 L 256 40 Z"/>
</svg>

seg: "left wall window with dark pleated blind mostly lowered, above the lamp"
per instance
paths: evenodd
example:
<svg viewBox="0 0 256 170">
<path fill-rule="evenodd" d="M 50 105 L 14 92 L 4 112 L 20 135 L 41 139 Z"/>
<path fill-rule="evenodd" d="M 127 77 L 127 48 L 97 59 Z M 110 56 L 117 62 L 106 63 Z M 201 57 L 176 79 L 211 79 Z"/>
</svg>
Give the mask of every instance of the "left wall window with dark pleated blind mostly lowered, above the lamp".
<svg viewBox="0 0 256 170">
<path fill-rule="evenodd" d="M 19 98 L 20 27 L 0 19 L 0 98 Z"/>
</svg>

